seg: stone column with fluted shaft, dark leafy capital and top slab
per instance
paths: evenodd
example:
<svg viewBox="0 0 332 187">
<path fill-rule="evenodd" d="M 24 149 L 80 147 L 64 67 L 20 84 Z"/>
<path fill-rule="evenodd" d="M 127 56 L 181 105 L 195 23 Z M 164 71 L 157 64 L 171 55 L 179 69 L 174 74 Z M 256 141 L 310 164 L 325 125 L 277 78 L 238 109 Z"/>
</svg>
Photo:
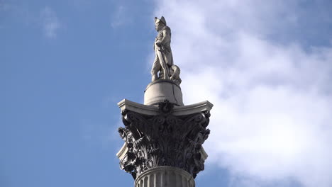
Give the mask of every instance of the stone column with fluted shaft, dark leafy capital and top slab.
<svg viewBox="0 0 332 187">
<path fill-rule="evenodd" d="M 209 101 L 177 106 L 167 99 L 153 106 L 123 100 L 124 140 L 117 156 L 135 187 L 193 187 L 207 157 L 202 144 L 210 130 Z"/>
</svg>

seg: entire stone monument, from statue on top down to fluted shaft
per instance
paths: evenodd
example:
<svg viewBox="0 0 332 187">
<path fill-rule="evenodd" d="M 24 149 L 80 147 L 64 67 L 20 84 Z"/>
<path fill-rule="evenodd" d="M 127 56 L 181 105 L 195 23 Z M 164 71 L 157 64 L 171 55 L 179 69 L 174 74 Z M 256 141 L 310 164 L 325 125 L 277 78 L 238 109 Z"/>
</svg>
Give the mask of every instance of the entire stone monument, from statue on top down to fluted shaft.
<svg viewBox="0 0 332 187">
<path fill-rule="evenodd" d="M 212 104 L 185 106 L 179 86 L 180 69 L 173 64 L 171 30 L 165 18 L 155 18 L 155 60 L 144 104 L 118 103 L 124 128 L 118 128 L 123 147 L 116 154 L 120 168 L 135 179 L 135 187 L 193 187 L 207 157 Z M 185 83 L 184 83 L 185 84 Z"/>
</svg>

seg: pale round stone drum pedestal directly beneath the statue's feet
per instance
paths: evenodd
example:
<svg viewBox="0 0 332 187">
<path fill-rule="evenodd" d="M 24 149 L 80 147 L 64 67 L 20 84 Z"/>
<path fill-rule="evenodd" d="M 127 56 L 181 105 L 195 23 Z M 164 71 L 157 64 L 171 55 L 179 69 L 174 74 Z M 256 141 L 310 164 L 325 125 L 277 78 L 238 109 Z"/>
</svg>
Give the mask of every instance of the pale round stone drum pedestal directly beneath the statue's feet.
<svg viewBox="0 0 332 187">
<path fill-rule="evenodd" d="M 168 100 L 170 103 L 174 103 L 175 106 L 184 106 L 181 88 L 171 80 L 159 79 L 153 81 L 148 84 L 144 92 L 145 105 L 155 106 Z"/>
</svg>

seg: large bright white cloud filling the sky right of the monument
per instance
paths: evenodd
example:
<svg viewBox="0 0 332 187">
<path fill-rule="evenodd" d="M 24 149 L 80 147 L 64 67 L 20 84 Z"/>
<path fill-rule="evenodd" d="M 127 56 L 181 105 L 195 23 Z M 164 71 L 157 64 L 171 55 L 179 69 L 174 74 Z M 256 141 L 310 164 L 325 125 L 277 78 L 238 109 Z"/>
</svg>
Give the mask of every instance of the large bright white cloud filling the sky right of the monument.
<svg viewBox="0 0 332 187">
<path fill-rule="evenodd" d="M 297 1 L 157 1 L 185 103 L 215 105 L 207 164 L 229 169 L 230 186 L 332 186 L 332 48 L 301 45 L 297 12 Z"/>
</svg>

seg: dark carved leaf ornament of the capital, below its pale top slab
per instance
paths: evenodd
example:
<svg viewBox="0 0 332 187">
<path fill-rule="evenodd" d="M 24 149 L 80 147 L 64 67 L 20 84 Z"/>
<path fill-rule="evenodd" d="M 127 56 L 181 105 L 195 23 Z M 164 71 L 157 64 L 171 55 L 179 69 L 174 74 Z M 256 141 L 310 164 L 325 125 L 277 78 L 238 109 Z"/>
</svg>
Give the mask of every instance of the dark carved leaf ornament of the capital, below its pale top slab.
<svg viewBox="0 0 332 187">
<path fill-rule="evenodd" d="M 201 145 L 210 130 L 209 111 L 192 115 L 172 115 L 172 104 L 160 103 L 158 115 L 142 115 L 123 111 L 125 128 L 118 132 L 128 151 L 120 167 L 135 179 L 143 171 L 156 166 L 174 166 L 196 177 L 204 170 Z"/>
</svg>

